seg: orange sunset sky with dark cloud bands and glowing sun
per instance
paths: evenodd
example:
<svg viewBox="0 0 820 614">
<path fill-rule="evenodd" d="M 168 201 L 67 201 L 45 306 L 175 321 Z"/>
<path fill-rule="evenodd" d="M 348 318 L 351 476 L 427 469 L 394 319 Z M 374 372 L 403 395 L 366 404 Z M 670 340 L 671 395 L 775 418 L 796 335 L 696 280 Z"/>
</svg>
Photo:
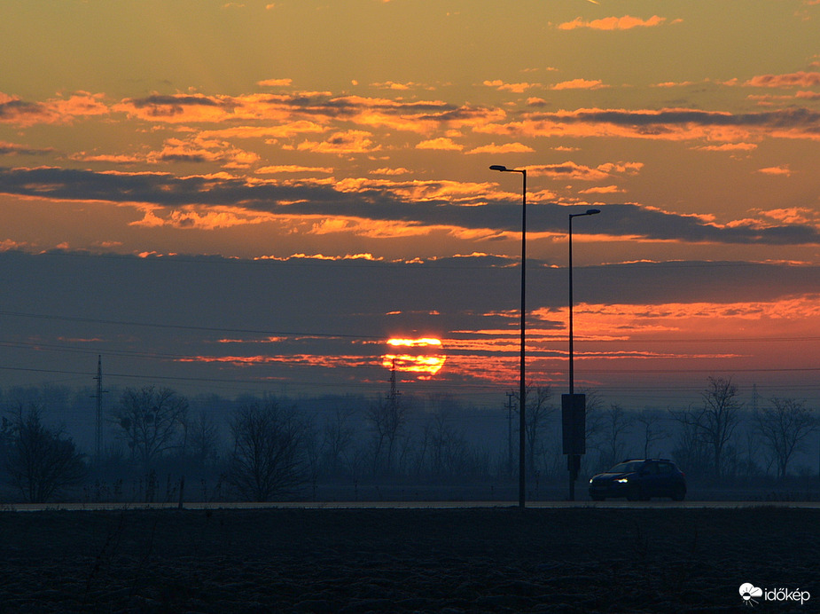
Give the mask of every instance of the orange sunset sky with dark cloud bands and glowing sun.
<svg viewBox="0 0 820 614">
<path fill-rule="evenodd" d="M 528 381 L 594 208 L 576 391 L 820 402 L 820 0 L 7 0 L 0 40 L 0 387 L 501 406 L 500 164 Z"/>
</svg>

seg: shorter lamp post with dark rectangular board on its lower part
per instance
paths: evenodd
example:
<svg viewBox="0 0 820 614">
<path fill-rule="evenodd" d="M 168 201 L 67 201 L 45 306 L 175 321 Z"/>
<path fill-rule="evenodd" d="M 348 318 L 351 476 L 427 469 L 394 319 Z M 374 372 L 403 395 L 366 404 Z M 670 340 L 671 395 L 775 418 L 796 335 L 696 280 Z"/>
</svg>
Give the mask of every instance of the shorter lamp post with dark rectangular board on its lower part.
<svg viewBox="0 0 820 614">
<path fill-rule="evenodd" d="M 569 394 L 561 398 L 564 430 L 564 453 L 569 469 L 569 500 L 575 500 L 575 480 L 585 452 L 586 396 L 575 394 L 573 355 L 573 217 L 594 216 L 600 209 L 587 209 L 583 213 L 569 214 Z"/>
</svg>

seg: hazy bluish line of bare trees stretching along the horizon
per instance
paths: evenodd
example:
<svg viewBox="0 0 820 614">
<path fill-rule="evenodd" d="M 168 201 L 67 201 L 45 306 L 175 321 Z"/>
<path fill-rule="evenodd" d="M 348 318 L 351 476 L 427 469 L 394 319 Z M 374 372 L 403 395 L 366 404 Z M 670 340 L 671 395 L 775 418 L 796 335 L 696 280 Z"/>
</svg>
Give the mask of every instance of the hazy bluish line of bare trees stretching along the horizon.
<svg viewBox="0 0 820 614">
<path fill-rule="evenodd" d="M 566 479 L 556 397 L 549 386 L 527 387 L 531 482 Z M 517 413 L 514 400 L 507 417 Z M 18 401 L 6 406 L 0 424 L 0 477 L 17 498 L 32 502 L 83 487 L 87 498 L 98 500 L 182 500 L 186 478 L 189 488 L 197 481 L 199 497 L 267 501 L 315 497 L 319 484 L 333 482 L 503 484 L 516 477 L 518 433 L 504 436 L 513 435 L 518 420 L 496 415 L 500 420 L 486 432 L 473 429 L 469 437 L 478 410 L 449 398 L 426 404 L 401 395 L 357 399 L 324 415 L 265 396 L 238 398 L 218 416 L 216 402 L 200 399 L 192 408 L 172 389 L 122 390 L 107 416 L 113 441 L 90 456 L 65 425 L 45 419 L 42 399 Z M 499 433 L 501 425 L 511 430 Z M 628 410 L 590 391 L 582 474 L 661 453 L 687 476 L 715 484 L 738 476 L 785 480 L 817 427 L 811 408 L 795 398 L 772 398 L 750 411 L 730 378 L 708 378 L 700 402 L 683 409 Z M 131 492 L 123 492 L 123 476 L 136 484 Z M 164 494 L 160 476 L 168 476 Z M 92 488 L 105 492 L 91 495 Z"/>
</svg>

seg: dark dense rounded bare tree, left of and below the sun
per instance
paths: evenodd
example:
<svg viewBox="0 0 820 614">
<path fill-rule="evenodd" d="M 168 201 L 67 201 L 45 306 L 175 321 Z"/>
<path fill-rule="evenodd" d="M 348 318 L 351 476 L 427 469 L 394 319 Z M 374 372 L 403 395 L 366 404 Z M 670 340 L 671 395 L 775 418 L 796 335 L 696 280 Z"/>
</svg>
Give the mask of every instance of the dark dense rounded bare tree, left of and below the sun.
<svg viewBox="0 0 820 614">
<path fill-rule="evenodd" d="M 297 491 L 308 480 L 308 424 L 275 401 L 238 408 L 230 421 L 233 454 L 228 483 L 248 500 L 268 501 Z"/>
</svg>

